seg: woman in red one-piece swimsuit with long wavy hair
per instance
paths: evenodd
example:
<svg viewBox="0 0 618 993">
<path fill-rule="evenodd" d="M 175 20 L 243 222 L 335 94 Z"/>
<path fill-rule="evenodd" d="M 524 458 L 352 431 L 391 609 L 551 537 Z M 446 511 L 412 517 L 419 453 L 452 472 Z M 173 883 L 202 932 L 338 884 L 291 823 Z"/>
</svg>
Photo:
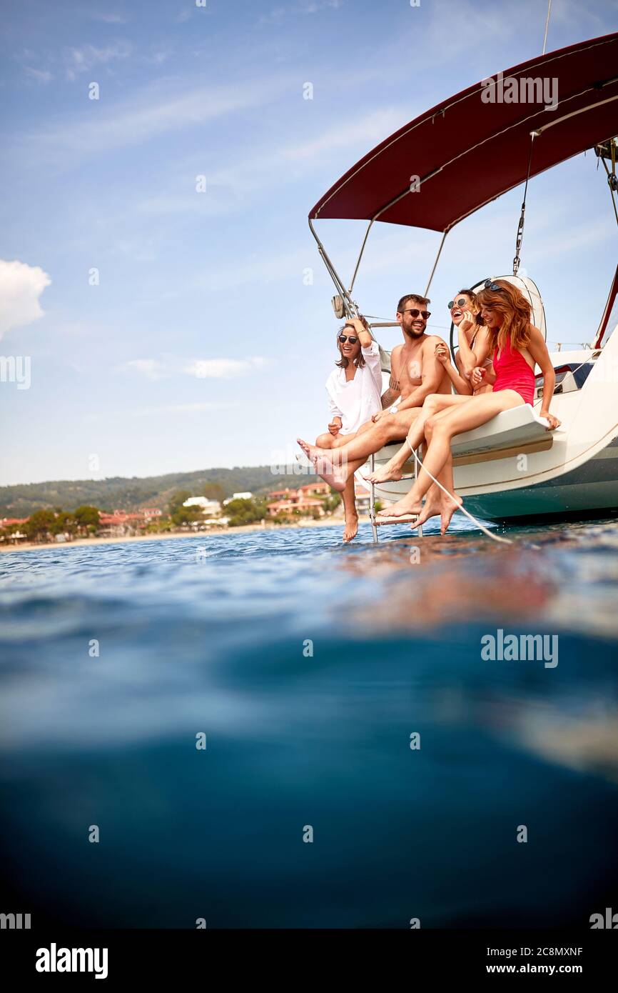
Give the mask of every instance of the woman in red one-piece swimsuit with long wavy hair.
<svg viewBox="0 0 618 993">
<path fill-rule="evenodd" d="M 478 294 L 483 324 L 488 335 L 483 350 L 478 354 L 478 365 L 470 381 L 478 388 L 481 380 L 493 380 L 491 393 L 476 393 L 467 402 L 447 407 L 430 417 L 425 425 L 428 450 L 419 477 L 410 493 L 393 506 L 380 511 L 386 517 L 419 514 L 417 523 L 423 523 L 435 513 L 423 497 L 433 484 L 433 479 L 443 475 L 450 459 L 451 439 L 464 431 L 486 424 L 496 414 L 523 403 L 533 403 L 535 391 L 535 363 L 544 375 L 543 402 L 540 416 L 547 418 L 548 430 L 553 431 L 559 421 L 550 413 L 556 373 L 543 335 L 530 323 L 530 304 L 517 287 L 504 279 L 485 283 Z M 493 355 L 493 373 L 483 368 L 483 362 Z M 430 476 L 429 474 L 432 474 Z M 449 475 L 449 474 L 448 474 Z M 449 489 L 449 488 L 448 488 Z M 456 497 L 457 502 L 460 502 Z"/>
</svg>

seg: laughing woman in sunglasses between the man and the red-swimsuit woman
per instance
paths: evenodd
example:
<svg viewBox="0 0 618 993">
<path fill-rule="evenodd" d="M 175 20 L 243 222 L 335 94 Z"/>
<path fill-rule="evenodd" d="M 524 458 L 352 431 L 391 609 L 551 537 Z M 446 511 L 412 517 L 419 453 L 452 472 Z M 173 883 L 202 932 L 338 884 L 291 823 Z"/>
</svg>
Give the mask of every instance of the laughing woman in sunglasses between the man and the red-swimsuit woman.
<svg viewBox="0 0 618 993">
<path fill-rule="evenodd" d="M 488 331 L 484 325 L 478 323 L 481 319 L 476 294 L 472 290 L 459 290 L 455 298 L 448 302 L 448 309 L 450 319 L 457 329 L 459 348 L 455 355 L 455 365 L 450 361 L 448 347 L 443 342 L 435 346 L 435 355 L 443 364 L 446 374 L 457 392 L 455 394 L 431 393 L 427 397 L 421 414 L 412 424 L 408 438 L 397 455 L 394 455 L 381 469 L 366 476 L 365 479 L 369 483 L 389 483 L 392 480 L 401 480 L 404 465 L 411 455 L 411 448 L 419 448 L 424 441 L 425 424 L 430 417 L 433 417 L 433 414 L 437 414 L 446 407 L 469 400 L 471 396 L 478 393 L 491 391 L 491 385 L 488 382 L 481 381 L 475 387 L 470 381 L 473 369 L 480 363 L 481 353 L 486 356 L 484 365 L 491 365 L 491 358 L 488 357 L 487 349 Z M 445 482 L 440 480 L 440 483 L 446 487 L 449 493 L 452 493 L 452 473 L 450 473 L 450 477 L 448 471 L 445 475 Z M 432 496 L 436 497 L 436 502 L 441 501 L 439 493 Z M 448 519 L 454 513 L 454 509 L 455 507 L 450 504 Z"/>
</svg>

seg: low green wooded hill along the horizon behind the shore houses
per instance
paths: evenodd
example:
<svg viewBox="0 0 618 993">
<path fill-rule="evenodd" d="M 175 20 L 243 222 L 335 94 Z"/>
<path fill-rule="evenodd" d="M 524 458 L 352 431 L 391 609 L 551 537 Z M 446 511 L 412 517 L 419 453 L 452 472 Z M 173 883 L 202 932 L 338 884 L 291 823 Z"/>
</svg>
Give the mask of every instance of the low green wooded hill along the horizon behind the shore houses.
<svg viewBox="0 0 618 993">
<path fill-rule="evenodd" d="M 114 477 L 108 480 L 54 481 L 0 487 L 0 517 L 27 517 L 35 510 L 62 507 L 72 510 L 84 503 L 100 510 L 136 510 L 141 506 L 168 509 L 177 490 L 201 495 L 206 484 L 218 484 L 225 497 L 250 491 L 265 495 L 271 490 L 289 487 L 296 490 L 314 480 L 314 476 L 273 475 L 270 466 L 237 466 L 234 469 L 204 469 L 194 473 L 169 473 L 142 479 Z"/>
</svg>

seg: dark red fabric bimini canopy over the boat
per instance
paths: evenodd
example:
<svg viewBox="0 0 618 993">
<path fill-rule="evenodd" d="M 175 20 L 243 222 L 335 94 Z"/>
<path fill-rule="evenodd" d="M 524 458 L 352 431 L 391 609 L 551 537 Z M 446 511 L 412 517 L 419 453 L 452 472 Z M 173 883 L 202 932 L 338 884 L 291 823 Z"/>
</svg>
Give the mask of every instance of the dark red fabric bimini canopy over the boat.
<svg viewBox="0 0 618 993">
<path fill-rule="evenodd" d="M 529 161 L 536 176 L 612 137 L 618 128 L 617 67 L 618 33 L 477 82 L 369 152 L 317 202 L 309 219 L 379 219 L 448 230 L 523 183 Z M 419 186 L 415 177 L 420 189 L 411 192 Z"/>
</svg>

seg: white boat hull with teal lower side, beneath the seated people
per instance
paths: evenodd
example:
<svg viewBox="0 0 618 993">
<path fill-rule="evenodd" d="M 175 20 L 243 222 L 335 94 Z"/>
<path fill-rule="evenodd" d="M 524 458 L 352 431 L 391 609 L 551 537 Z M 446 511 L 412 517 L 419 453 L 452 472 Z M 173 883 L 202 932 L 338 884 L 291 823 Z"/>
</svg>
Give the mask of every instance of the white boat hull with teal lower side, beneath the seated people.
<svg viewBox="0 0 618 993">
<path fill-rule="evenodd" d="M 559 365 L 561 356 L 553 358 Z M 562 422 L 556 432 L 545 430 L 538 400 L 534 412 L 514 408 L 453 439 L 454 486 L 467 509 L 490 520 L 618 511 L 618 335 L 594 358 L 581 389 L 555 396 L 552 412 Z M 376 468 L 398 448 L 377 453 Z M 408 463 L 406 478 L 376 486 L 376 499 L 408 493 L 412 471 Z"/>
</svg>

